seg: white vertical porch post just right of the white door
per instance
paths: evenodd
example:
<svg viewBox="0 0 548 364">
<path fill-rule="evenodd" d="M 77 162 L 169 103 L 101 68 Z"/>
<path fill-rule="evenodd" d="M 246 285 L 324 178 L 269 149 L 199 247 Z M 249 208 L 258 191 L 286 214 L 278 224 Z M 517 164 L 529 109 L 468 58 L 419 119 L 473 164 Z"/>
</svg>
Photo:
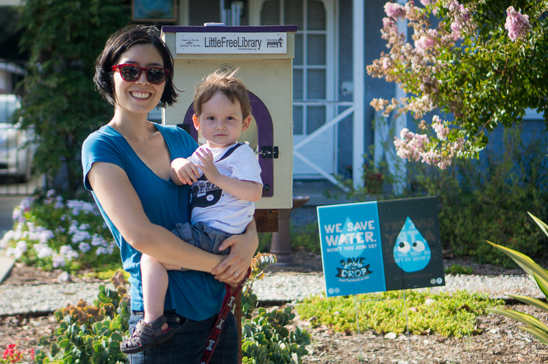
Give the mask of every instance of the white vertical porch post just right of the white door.
<svg viewBox="0 0 548 364">
<path fill-rule="evenodd" d="M 363 185 L 364 164 L 364 1 L 352 1 L 352 73 L 354 82 L 354 118 L 352 130 L 352 182 L 354 186 Z"/>
</svg>

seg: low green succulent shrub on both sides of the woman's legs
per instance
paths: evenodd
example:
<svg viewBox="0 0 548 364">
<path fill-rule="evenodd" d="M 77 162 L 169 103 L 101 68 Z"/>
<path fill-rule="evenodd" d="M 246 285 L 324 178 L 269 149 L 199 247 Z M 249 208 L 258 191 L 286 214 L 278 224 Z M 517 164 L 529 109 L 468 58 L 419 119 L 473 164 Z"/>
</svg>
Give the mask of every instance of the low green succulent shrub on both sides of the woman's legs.
<svg viewBox="0 0 548 364">
<path fill-rule="evenodd" d="M 310 334 L 292 325 L 295 313 L 291 307 L 267 312 L 258 309 L 253 282 L 264 277 L 264 268 L 275 263 L 270 254 L 258 254 L 251 261 L 251 277 L 242 289 L 242 353 L 243 363 L 297 364 L 308 354 Z M 129 335 L 129 296 L 125 272 L 111 278 L 115 290 L 99 288 L 93 306 L 84 301 L 55 311 L 59 326 L 50 337 L 40 339 L 36 362 L 55 364 L 96 364 L 125 362 L 120 343 Z"/>
</svg>

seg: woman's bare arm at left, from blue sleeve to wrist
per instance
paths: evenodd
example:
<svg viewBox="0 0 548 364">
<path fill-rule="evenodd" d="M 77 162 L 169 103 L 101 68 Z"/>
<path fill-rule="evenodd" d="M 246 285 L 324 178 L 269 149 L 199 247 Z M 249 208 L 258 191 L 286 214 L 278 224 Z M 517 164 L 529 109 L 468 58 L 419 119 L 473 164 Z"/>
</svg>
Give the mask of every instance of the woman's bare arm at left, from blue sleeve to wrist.
<svg viewBox="0 0 548 364">
<path fill-rule="evenodd" d="M 181 239 L 160 225 L 150 222 L 139 196 L 122 168 L 95 162 L 88 172 L 90 185 L 116 229 L 136 250 L 162 263 L 189 270 L 212 272 L 226 256 L 214 255 Z"/>
</svg>

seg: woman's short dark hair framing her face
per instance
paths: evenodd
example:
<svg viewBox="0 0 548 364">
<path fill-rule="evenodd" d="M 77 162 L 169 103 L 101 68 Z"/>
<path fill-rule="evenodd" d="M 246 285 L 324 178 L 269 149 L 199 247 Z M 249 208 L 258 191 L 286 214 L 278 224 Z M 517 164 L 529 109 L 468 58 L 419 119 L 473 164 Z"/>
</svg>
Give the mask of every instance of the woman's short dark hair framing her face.
<svg viewBox="0 0 548 364">
<path fill-rule="evenodd" d="M 162 107 L 172 105 L 177 99 L 177 92 L 173 85 L 173 57 L 169 48 L 160 38 L 160 31 L 152 25 L 128 25 L 108 38 L 105 49 L 95 61 L 95 77 L 93 77 L 95 87 L 103 99 L 111 105 L 116 104 L 112 66 L 117 64 L 122 53 L 135 44 L 152 44 L 155 49 L 158 49 L 164 61 L 164 68 L 169 70 L 160 104 Z"/>
</svg>

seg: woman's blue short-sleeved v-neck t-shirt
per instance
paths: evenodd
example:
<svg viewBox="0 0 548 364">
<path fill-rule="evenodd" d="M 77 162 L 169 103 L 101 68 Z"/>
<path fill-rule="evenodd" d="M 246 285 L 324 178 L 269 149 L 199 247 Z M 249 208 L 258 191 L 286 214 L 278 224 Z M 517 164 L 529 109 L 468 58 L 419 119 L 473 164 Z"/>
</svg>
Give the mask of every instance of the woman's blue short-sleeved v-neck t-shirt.
<svg viewBox="0 0 548 364">
<path fill-rule="evenodd" d="M 187 158 L 198 144 L 182 129 L 175 126 L 155 125 L 162 133 L 169 148 L 171 160 Z M 138 194 L 146 215 L 153 224 L 171 231 L 177 222 L 187 222 L 190 186 L 177 186 L 171 181 L 158 177 L 134 152 L 127 140 L 116 129 L 104 126 L 90 134 L 82 146 L 82 166 L 84 185 L 92 192 L 93 198 L 118 244 L 123 268 L 132 276 L 129 294 L 132 309 L 143 311 L 142 285 L 140 273 L 141 253 L 127 244 L 116 226 L 112 224 L 103 207 L 97 200 L 88 181 L 88 172 L 94 162 L 116 164 L 127 174 Z M 185 244 L 185 243 L 182 243 Z M 169 270 L 169 287 L 166 294 L 165 310 L 175 310 L 190 320 L 205 320 L 219 313 L 225 293 L 225 285 L 213 278 L 212 274 L 188 270 Z"/>
</svg>

